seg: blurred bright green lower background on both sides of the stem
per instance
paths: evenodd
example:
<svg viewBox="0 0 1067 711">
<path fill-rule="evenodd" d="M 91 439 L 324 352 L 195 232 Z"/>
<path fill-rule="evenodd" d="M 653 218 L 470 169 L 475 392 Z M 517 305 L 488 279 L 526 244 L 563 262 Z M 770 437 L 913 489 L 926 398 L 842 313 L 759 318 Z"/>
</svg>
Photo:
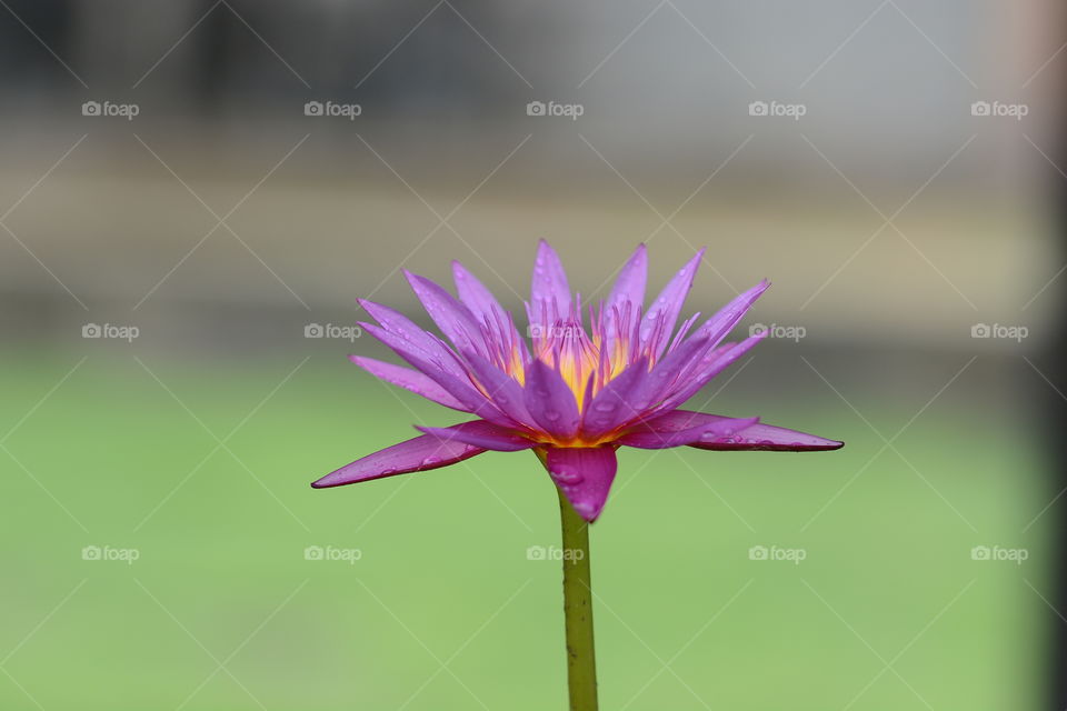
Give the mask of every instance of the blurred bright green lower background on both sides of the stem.
<svg viewBox="0 0 1067 711">
<path fill-rule="evenodd" d="M 3 481 L 4 708 L 33 708 L 20 687 L 46 709 L 565 703 L 559 563 L 527 554 L 559 545 L 534 457 L 312 491 L 409 422 L 455 417 L 341 358 L 142 361 L 90 357 L 21 421 L 79 361 L 4 359 L 3 444 L 26 468 Z M 1035 705 L 1048 551 L 1026 433 L 949 391 L 894 442 L 906 464 L 872 428 L 891 437 L 923 402 L 841 383 L 868 427 L 810 371 L 789 374 L 805 401 L 767 392 L 775 378 L 754 358 L 707 409 L 846 449 L 621 452 L 592 531 L 604 707 Z"/>
</svg>

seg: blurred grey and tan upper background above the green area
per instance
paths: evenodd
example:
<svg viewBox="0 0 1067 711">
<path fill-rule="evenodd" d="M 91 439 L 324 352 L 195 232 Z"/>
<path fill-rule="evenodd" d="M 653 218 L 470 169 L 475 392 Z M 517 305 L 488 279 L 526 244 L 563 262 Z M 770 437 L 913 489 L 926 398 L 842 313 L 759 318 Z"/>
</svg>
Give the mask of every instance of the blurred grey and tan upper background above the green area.
<svg viewBox="0 0 1067 711">
<path fill-rule="evenodd" d="M 545 237 L 584 284 L 639 241 L 660 277 L 708 244 L 701 300 L 770 277 L 811 338 L 1039 337 L 1054 6 L 11 3 L 4 318 L 32 304 L 20 328 L 63 338 L 80 301 L 160 341 L 185 309 L 340 319 L 372 291 L 410 301 L 397 268 L 442 277 L 446 257 L 516 302 Z"/>
</svg>

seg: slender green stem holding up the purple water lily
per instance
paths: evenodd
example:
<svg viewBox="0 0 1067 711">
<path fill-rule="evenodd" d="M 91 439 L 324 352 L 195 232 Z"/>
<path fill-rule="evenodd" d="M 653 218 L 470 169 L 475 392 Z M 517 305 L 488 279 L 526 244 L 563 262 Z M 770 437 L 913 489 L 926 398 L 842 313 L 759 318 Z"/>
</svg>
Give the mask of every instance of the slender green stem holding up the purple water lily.
<svg viewBox="0 0 1067 711">
<path fill-rule="evenodd" d="M 592 581 L 589 524 L 559 491 L 564 542 L 564 618 L 567 622 L 567 685 L 570 711 L 597 711 L 597 660 L 592 644 Z"/>
</svg>

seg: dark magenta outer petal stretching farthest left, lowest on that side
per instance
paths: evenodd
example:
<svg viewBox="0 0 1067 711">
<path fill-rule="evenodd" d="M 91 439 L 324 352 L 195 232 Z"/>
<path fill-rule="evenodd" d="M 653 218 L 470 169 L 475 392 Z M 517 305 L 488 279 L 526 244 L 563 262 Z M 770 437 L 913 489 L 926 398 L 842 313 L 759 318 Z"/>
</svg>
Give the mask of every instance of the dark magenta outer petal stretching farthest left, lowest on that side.
<svg viewBox="0 0 1067 711">
<path fill-rule="evenodd" d="M 311 485 L 316 489 L 325 489 L 412 471 L 439 469 L 485 451 L 480 447 L 471 447 L 465 442 L 441 441 L 437 437 L 423 434 L 358 459 L 322 477 Z"/>
</svg>

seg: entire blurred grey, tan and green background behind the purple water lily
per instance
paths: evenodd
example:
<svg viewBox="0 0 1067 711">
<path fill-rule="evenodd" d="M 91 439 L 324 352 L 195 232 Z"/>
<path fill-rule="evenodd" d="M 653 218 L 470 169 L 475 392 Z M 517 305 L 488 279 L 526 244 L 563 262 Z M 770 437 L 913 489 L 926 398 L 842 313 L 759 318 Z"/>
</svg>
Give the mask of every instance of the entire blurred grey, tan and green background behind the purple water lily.
<svg viewBox="0 0 1067 711">
<path fill-rule="evenodd" d="M 564 708 L 534 457 L 309 487 L 457 421 L 347 361 L 397 360 L 335 337 L 356 300 L 426 324 L 400 270 L 459 259 L 520 313 L 540 238 L 588 301 L 639 242 L 652 293 L 708 247 L 686 316 L 770 278 L 735 338 L 779 336 L 689 404 L 847 442 L 620 453 L 601 708 L 1047 708 L 1065 27 L 1053 0 L 0 3 L 0 709 Z"/>
</svg>

